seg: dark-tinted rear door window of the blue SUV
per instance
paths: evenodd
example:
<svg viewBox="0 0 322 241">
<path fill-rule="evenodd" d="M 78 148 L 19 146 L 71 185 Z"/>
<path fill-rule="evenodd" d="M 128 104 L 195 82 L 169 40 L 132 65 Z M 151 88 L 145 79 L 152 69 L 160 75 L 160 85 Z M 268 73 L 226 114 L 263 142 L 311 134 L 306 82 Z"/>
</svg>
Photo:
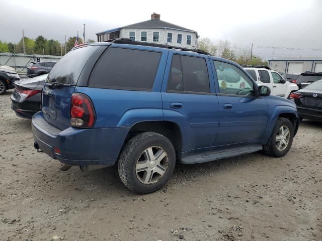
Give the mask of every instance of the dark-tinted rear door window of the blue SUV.
<svg viewBox="0 0 322 241">
<path fill-rule="evenodd" d="M 167 90 L 209 93 L 206 60 L 185 55 L 173 55 Z"/>
</svg>

